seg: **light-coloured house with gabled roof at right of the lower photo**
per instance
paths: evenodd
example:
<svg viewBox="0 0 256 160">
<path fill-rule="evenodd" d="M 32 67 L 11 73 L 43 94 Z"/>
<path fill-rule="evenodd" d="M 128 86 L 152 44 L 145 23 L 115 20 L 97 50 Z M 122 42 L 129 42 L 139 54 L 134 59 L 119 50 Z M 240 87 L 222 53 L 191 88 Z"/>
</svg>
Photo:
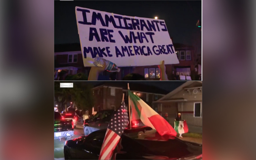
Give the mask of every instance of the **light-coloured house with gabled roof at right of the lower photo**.
<svg viewBox="0 0 256 160">
<path fill-rule="evenodd" d="M 189 125 L 202 126 L 202 81 L 185 82 L 153 103 L 160 115 L 168 113 L 170 122 L 181 113 Z"/>
</svg>

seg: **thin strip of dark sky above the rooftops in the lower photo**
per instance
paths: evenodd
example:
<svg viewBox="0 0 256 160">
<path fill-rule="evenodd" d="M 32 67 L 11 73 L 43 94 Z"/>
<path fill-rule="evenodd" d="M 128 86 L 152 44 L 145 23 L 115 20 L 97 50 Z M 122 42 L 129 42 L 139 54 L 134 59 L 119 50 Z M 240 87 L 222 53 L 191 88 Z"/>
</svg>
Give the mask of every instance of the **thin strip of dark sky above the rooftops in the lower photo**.
<svg viewBox="0 0 256 160">
<path fill-rule="evenodd" d="M 113 82 L 113 81 L 112 81 Z M 75 83 L 75 82 L 73 82 Z M 91 84 L 93 86 L 96 86 L 97 84 L 102 83 L 101 81 L 84 81 L 83 83 Z M 126 81 L 116 81 L 115 83 L 129 83 Z M 181 84 L 184 82 L 173 82 L 173 81 L 132 81 L 130 83 L 141 83 L 141 84 L 146 84 L 147 86 L 155 86 L 159 87 L 160 89 L 166 90 L 168 92 L 171 92 L 175 88 L 179 87 Z"/>
</svg>

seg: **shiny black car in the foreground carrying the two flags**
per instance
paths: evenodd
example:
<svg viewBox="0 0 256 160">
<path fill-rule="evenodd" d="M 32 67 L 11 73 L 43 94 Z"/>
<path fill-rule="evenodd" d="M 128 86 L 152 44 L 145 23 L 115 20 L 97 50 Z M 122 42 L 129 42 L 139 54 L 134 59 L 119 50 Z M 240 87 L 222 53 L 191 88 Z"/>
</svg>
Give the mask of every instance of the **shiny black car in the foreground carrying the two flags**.
<svg viewBox="0 0 256 160">
<path fill-rule="evenodd" d="M 148 128 L 124 132 L 121 147 L 117 145 L 112 159 L 202 159 L 201 144 L 181 141 L 174 136 L 161 136 Z M 99 130 L 66 141 L 65 159 L 99 159 L 105 133 L 105 129 Z"/>
</svg>

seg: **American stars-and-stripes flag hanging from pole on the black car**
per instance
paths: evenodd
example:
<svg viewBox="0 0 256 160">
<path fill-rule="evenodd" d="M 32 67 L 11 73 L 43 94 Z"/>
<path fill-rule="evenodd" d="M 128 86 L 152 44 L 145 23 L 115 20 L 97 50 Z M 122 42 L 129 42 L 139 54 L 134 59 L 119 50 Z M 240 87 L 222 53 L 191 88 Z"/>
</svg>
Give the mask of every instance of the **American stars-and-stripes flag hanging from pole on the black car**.
<svg viewBox="0 0 256 160">
<path fill-rule="evenodd" d="M 99 159 L 110 159 L 114 152 L 116 145 L 119 143 L 121 135 L 129 122 L 127 110 L 124 102 L 120 108 L 114 112 L 107 131 L 103 144 L 101 146 L 101 153 Z"/>
</svg>

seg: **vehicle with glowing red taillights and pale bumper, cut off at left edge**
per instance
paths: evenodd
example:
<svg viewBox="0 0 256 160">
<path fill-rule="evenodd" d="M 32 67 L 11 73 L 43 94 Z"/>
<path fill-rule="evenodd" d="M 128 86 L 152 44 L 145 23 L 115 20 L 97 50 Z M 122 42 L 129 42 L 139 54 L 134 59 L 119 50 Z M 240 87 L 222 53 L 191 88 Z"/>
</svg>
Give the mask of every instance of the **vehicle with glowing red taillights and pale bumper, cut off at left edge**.
<svg viewBox="0 0 256 160">
<path fill-rule="evenodd" d="M 74 124 L 72 120 L 64 120 L 60 113 L 54 112 L 54 140 L 70 138 L 74 135 Z"/>
</svg>

